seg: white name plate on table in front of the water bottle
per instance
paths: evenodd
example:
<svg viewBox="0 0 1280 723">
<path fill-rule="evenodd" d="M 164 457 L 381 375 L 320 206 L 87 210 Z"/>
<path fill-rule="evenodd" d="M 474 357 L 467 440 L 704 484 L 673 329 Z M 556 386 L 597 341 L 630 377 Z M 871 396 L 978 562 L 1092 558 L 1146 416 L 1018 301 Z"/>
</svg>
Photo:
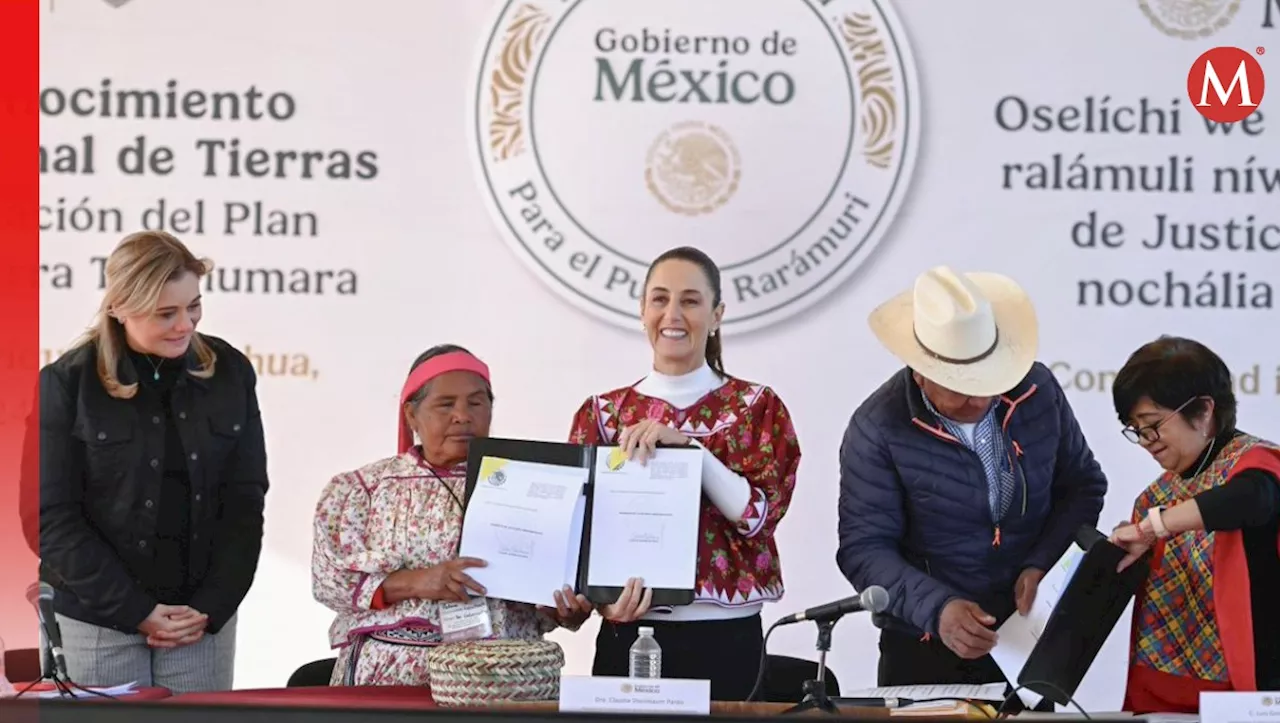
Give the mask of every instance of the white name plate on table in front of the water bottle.
<svg viewBox="0 0 1280 723">
<path fill-rule="evenodd" d="M 559 710 L 561 713 L 710 715 L 712 682 L 563 676 Z"/>
</svg>

